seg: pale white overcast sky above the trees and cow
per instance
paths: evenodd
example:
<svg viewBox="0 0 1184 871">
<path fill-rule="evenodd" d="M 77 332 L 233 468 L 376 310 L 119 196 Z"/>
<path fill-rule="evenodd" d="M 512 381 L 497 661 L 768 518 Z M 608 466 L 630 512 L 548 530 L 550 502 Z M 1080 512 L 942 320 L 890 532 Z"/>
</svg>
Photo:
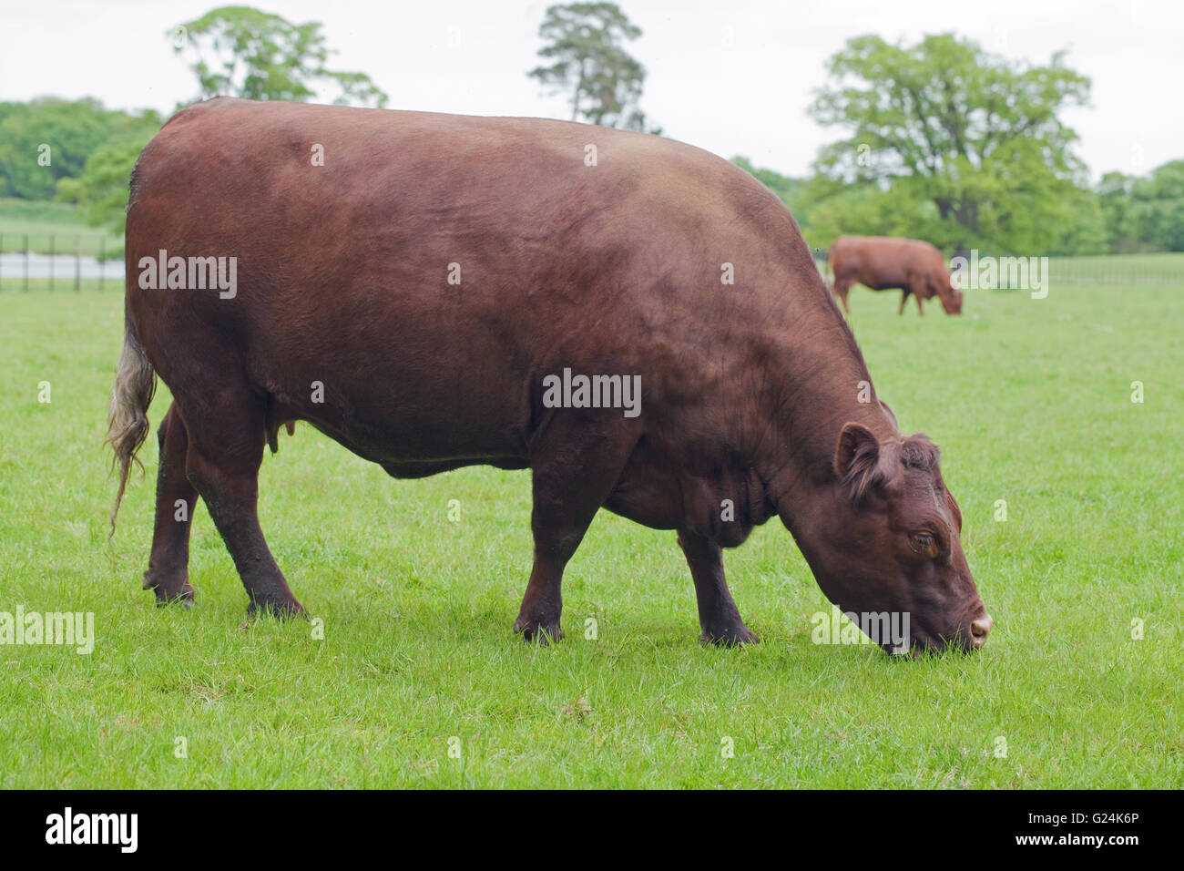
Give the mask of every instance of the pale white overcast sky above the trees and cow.
<svg viewBox="0 0 1184 871">
<path fill-rule="evenodd" d="M 95 96 L 170 111 L 197 95 L 166 31 L 217 0 L 0 1 L 0 100 Z M 321 21 L 334 69 L 368 73 L 392 109 L 566 117 L 526 71 L 548 4 L 513 0 L 270 0 Z M 805 108 L 823 62 L 854 36 L 908 41 L 954 31 L 1014 58 L 1067 63 L 1093 79 L 1092 105 L 1066 115 L 1094 177 L 1143 173 L 1184 156 L 1179 0 L 623 0 L 644 31 L 629 50 L 649 70 L 642 108 L 667 135 L 802 175 L 838 130 Z"/>
</svg>

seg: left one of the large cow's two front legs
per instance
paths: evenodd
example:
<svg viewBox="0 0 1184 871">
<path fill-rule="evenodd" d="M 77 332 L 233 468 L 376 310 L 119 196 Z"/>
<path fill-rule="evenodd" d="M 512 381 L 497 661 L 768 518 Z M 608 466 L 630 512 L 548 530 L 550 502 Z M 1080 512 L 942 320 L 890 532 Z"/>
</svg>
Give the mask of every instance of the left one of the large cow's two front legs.
<svg viewBox="0 0 1184 871">
<path fill-rule="evenodd" d="M 580 423 L 571 415 L 570 410 L 556 414 L 541 444 L 532 449 L 534 565 L 514 621 L 514 632 L 527 641 L 564 636 L 559 626 L 564 568 L 616 487 L 632 450 L 619 421 L 616 433 L 606 433 L 594 422 L 585 418 Z"/>
</svg>

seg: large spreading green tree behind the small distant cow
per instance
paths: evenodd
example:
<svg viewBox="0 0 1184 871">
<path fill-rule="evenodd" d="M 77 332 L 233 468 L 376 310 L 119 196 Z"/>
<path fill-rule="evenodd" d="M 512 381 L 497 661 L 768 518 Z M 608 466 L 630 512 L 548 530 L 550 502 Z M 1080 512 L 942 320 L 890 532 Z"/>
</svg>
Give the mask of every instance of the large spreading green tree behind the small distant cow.
<svg viewBox="0 0 1184 871">
<path fill-rule="evenodd" d="M 1077 135 L 1061 119 L 1087 102 L 1089 79 L 1061 55 L 1035 66 L 950 33 L 910 46 L 864 36 L 832 56 L 828 72 L 810 114 L 849 135 L 822 149 L 816 169 L 931 203 L 934 243 L 1051 251 L 1080 210 L 1096 212 L 1070 148 Z"/>
</svg>

